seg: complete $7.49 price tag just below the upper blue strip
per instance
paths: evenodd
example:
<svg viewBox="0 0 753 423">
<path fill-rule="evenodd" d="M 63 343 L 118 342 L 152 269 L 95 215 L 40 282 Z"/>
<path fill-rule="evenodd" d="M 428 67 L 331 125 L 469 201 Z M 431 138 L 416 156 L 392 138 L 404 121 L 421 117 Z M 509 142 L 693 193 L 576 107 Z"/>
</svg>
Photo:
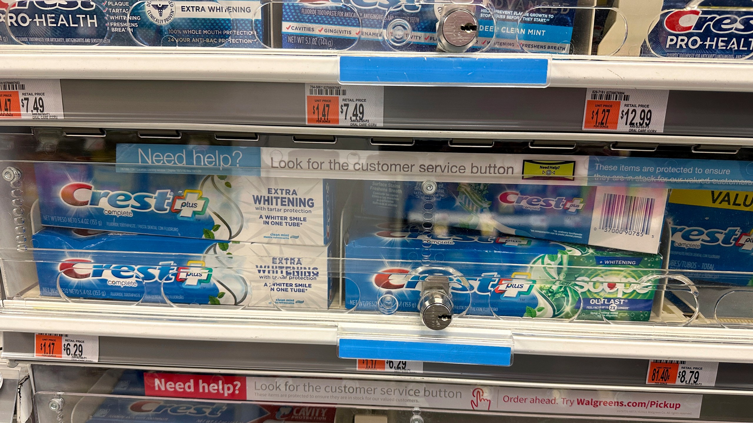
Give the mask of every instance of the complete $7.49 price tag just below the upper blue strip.
<svg viewBox="0 0 753 423">
<path fill-rule="evenodd" d="M 384 126 L 384 87 L 306 84 L 306 124 Z"/>
</svg>

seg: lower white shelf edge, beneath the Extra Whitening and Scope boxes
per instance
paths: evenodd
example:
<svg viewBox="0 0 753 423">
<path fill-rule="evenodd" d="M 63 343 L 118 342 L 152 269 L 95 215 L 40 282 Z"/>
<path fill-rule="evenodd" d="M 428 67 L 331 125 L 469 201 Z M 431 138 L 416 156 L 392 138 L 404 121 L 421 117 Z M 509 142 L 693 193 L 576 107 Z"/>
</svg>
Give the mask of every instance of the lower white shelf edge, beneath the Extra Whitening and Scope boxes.
<svg viewBox="0 0 753 423">
<path fill-rule="evenodd" d="M 0 330 L 159 339 L 335 345 L 346 333 L 484 342 L 508 339 L 513 354 L 753 363 L 751 330 L 529 319 L 456 318 L 445 330 L 418 315 L 208 310 L 5 300 Z"/>
</svg>

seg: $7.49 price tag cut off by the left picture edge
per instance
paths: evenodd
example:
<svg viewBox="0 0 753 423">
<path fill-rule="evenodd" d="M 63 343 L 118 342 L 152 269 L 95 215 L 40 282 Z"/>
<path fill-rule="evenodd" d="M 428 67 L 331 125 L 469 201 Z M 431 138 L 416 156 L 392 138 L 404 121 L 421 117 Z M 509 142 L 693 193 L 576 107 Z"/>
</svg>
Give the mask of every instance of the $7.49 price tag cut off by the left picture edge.
<svg viewBox="0 0 753 423">
<path fill-rule="evenodd" d="M 0 119 L 62 119 L 59 79 L 0 80 Z"/>
</svg>

